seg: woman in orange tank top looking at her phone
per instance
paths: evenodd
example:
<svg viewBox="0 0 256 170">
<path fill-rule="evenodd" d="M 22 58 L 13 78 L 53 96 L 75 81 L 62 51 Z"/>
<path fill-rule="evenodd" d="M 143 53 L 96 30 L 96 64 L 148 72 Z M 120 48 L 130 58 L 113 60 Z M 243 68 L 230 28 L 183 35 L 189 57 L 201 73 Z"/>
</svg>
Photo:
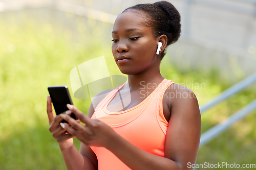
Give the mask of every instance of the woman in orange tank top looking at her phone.
<svg viewBox="0 0 256 170">
<path fill-rule="evenodd" d="M 68 169 L 189 169 L 195 163 L 201 134 L 197 99 L 159 70 L 165 48 L 178 40 L 180 27 L 179 12 L 165 1 L 124 10 L 114 23 L 112 53 L 129 85 L 93 101 L 98 105 L 90 106 L 88 116 L 68 105 L 69 111 L 55 117 L 48 97 L 50 132 Z M 111 107 L 118 91 L 131 94 L 122 110 Z M 86 125 L 71 118 L 71 112 Z M 60 123 L 63 119 L 69 124 Z M 81 141 L 80 152 L 73 137 Z"/>
</svg>

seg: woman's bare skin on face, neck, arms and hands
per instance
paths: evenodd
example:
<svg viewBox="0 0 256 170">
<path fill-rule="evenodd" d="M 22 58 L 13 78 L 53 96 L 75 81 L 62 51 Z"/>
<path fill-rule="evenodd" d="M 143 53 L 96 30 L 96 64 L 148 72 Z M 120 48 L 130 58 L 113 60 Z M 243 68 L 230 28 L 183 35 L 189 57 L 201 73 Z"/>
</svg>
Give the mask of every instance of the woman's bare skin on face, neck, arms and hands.
<svg viewBox="0 0 256 170">
<path fill-rule="evenodd" d="M 154 90 L 154 84 L 159 84 L 163 80 L 159 70 L 160 57 L 156 55 L 156 51 L 157 43 L 162 42 L 161 55 L 166 47 L 167 37 L 161 35 L 155 38 L 151 28 L 142 25 L 145 16 L 146 14 L 140 11 L 126 11 L 117 17 L 113 27 L 112 53 L 120 71 L 128 75 L 129 82 L 129 86 L 124 86 L 121 90 L 130 90 L 132 99 L 123 110 L 132 108 L 144 100 L 140 94 L 141 81 L 148 84 L 146 90 L 150 94 Z M 130 60 L 120 63 L 120 56 Z M 174 94 L 172 99 L 168 98 L 169 93 Z M 90 119 L 94 113 L 92 105 L 88 116 L 75 106 L 68 105 L 69 110 L 86 126 L 79 124 L 66 113 L 55 117 L 51 98 L 48 96 L 50 132 L 59 143 L 67 168 L 98 169 L 97 157 L 89 147 L 93 145 L 110 150 L 131 169 L 189 169 L 187 163 L 195 163 L 200 142 L 201 115 L 198 102 L 191 90 L 177 84 L 171 85 L 165 94 L 163 112 L 169 126 L 164 157 L 137 148 L 108 125 L 97 119 Z M 93 102 L 100 101 L 101 99 Z M 59 126 L 62 119 L 69 123 L 62 125 L 63 128 Z M 81 141 L 80 152 L 73 144 L 73 137 Z"/>
</svg>

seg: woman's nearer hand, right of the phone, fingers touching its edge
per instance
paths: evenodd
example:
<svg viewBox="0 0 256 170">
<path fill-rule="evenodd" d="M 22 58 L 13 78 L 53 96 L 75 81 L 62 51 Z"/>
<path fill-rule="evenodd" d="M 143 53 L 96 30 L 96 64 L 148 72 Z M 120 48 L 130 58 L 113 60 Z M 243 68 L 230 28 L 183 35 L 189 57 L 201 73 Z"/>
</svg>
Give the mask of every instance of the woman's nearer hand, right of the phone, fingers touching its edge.
<svg viewBox="0 0 256 170">
<path fill-rule="evenodd" d="M 84 115 L 74 105 L 67 105 L 70 111 L 76 115 L 80 122 L 86 124 L 81 125 L 68 114 L 60 114 L 69 124 L 61 124 L 61 127 L 68 131 L 72 136 L 77 137 L 82 143 L 90 146 L 105 147 L 111 144 L 113 135 L 117 133 L 108 125 L 98 119 L 91 119 Z"/>
</svg>

